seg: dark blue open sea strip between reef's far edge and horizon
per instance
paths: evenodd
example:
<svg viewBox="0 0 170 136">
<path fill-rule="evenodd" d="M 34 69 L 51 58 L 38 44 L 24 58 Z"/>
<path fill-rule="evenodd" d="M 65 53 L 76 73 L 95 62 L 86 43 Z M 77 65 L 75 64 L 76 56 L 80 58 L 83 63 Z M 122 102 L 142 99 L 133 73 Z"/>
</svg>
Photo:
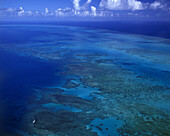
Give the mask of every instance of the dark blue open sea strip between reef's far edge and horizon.
<svg viewBox="0 0 170 136">
<path fill-rule="evenodd" d="M 46 24 L 81 26 L 96 29 L 108 29 L 120 33 L 141 34 L 170 39 L 170 22 L 166 21 L 40 21 L 40 22 L 0 22 L 0 24 Z"/>
</svg>

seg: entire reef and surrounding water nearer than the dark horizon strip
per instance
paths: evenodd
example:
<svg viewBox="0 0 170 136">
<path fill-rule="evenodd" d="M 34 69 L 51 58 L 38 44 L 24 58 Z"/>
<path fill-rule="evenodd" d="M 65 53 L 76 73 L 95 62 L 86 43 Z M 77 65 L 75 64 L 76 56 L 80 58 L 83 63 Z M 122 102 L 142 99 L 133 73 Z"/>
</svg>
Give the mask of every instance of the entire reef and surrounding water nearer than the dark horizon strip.
<svg viewBox="0 0 170 136">
<path fill-rule="evenodd" d="M 2 135 L 168 135 L 170 40 L 0 26 Z"/>
</svg>

